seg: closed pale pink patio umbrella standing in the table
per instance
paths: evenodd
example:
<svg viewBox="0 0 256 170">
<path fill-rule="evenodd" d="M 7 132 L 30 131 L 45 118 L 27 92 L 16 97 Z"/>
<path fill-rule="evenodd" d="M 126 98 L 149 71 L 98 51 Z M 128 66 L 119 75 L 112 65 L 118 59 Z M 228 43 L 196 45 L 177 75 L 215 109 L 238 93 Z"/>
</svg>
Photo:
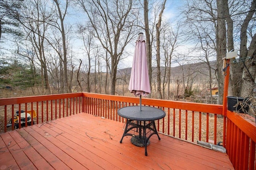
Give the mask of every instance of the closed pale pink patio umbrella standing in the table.
<svg viewBox="0 0 256 170">
<path fill-rule="evenodd" d="M 141 111 L 141 96 L 147 96 L 151 92 L 148 77 L 146 43 L 143 33 L 139 33 L 138 38 L 136 40 L 134 56 L 132 61 L 131 78 L 129 82 L 129 90 L 135 96 L 140 96 Z"/>
</svg>

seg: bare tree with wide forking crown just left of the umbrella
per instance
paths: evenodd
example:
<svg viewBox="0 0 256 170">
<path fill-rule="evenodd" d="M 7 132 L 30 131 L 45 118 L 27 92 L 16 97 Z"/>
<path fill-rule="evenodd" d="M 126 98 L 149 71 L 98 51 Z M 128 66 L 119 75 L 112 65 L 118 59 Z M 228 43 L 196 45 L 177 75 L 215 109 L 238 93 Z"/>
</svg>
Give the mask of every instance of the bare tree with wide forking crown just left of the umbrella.
<svg viewBox="0 0 256 170">
<path fill-rule="evenodd" d="M 78 4 L 86 12 L 95 36 L 111 57 L 111 94 L 115 94 L 116 72 L 122 59 L 124 47 L 137 35 L 133 30 L 136 18 L 132 13 L 134 2 L 123 1 L 92 1 L 79 0 Z M 89 7 L 89 8 L 88 8 Z"/>
</svg>

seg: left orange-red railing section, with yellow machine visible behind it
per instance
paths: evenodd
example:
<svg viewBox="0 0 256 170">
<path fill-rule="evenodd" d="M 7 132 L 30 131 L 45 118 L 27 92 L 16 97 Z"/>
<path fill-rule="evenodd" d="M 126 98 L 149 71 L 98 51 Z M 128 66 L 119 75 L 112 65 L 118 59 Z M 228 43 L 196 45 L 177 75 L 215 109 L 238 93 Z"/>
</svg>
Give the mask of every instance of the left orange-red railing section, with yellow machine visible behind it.
<svg viewBox="0 0 256 170">
<path fill-rule="evenodd" d="M 34 110 L 37 114 L 36 118 L 34 118 L 34 123 L 44 123 L 71 114 L 83 112 L 82 100 L 83 93 L 2 98 L 0 99 L 0 117 L 4 118 L 4 122 L 1 122 L 0 126 L 4 131 L 1 131 L 0 133 L 15 129 L 15 123 L 11 120 L 14 120 L 17 111 L 18 113 L 21 113 L 22 111 L 27 112 Z M 25 120 L 24 124 L 27 126 L 27 117 Z M 8 123 L 12 123 L 12 126 L 7 129 L 6 125 Z M 33 125 L 33 121 L 31 123 Z M 18 127 L 21 128 L 21 119 L 18 121 Z"/>
</svg>

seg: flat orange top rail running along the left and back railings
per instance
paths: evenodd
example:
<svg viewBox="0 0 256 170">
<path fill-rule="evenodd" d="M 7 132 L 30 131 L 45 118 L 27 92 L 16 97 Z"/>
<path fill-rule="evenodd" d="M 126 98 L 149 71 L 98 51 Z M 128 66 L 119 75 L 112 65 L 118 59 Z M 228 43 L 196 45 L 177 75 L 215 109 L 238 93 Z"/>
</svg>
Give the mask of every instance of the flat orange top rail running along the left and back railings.
<svg viewBox="0 0 256 170">
<path fill-rule="evenodd" d="M 0 106 L 6 106 L 6 105 L 12 105 L 12 104 L 23 104 L 23 103 L 30 103 L 30 102 L 40 102 L 40 101 L 48 101 L 48 100 L 58 100 L 63 98 L 75 98 L 75 97 L 89 97 L 89 98 L 98 98 L 102 100 L 112 100 L 112 101 L 139 104 L 138 97 L 136 98 L 136 97 L 128 97 L 128 96 L 115 96 L 115 95 L 95 94 L 95 93 L 69 93 L 69 94 L 52 94 L 52 95 L 43 95 L 43 96 L 28 96 L 28 97 L 18 97 L 18 98 L 2 98 L 0 99 Z M 159 100 L 159 99 L 149 99 L 149 98 L 142 98 L 142 104 L 148 105 L 148 106 L 186 109 L 186 110 L 201 111 L 205 113 L 216 113 L 216 114 L 222 114 L 222 107 L 223 107 L 222 105 L 216 105 L 216 104 L 201 104 L 201 103 Z"/>
</svg>

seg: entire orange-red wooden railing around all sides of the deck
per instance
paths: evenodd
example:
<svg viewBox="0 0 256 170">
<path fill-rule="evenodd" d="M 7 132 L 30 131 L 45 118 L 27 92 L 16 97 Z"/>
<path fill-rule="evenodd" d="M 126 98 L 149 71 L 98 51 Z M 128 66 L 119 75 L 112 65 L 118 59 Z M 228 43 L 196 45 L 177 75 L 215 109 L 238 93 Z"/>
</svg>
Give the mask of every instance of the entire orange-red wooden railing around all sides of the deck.
<svg viewBox="0 0 256 170">
<path fill-rule="evenodd" d="M 118 109 L 138 104 L 139 98 L 135 97 L 92 93 L 3 98 L 0 99 L 0 116 L 4 117 L 1 126 L 4 126 L 4 132 L 14 130 L 14 122 L 11 128 L 6 128 L 6 125 L 14 118 L 16 111 L 21 110 L 35 110 L 36 124 L 81 112 L 125 123 L 125 119 L 117 114 Z M 222 105 L 148 98 L 142 98 L 142 105 L 158 107 L 166 112 L 166 117 L 156 121 L 159 132 L 194 143 L 204 141 L 217 144 L 223 141 L 236 169 L 255 168 L 255 125 L 234 116 L 230 111 L 227 111 L 227 116 L 222 115 Z"/>
</svg>

